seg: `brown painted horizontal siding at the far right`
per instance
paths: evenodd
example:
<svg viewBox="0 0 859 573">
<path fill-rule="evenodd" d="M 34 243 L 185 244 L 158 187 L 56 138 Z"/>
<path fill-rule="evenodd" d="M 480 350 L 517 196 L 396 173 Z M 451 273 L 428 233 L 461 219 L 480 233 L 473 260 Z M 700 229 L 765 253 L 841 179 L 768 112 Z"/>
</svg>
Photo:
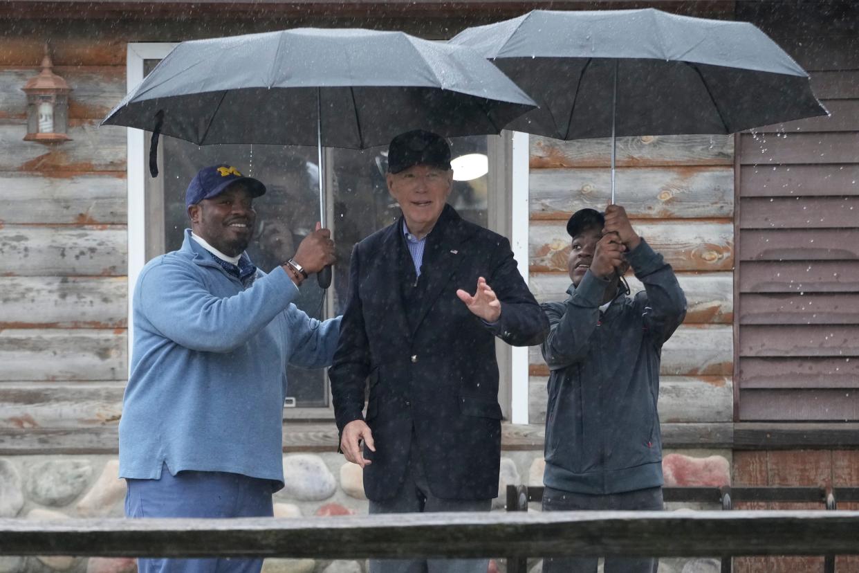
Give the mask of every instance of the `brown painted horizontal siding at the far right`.
<svg viewBox="0 0 859 573">
<path fill-rule="evenodd" d="M 857 420 L 859 62 L 777 40 L 832 116 L 738 139 L 738 415 Z"/>
</svg>

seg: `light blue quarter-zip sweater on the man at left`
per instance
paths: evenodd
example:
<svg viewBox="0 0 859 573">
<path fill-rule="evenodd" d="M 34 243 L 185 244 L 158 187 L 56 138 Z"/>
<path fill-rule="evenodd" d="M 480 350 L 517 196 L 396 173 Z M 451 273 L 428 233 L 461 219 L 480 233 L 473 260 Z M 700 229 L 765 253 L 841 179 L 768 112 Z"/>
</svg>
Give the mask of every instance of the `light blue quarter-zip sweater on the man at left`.
<svg viewBox="0 0 859 573">
<path fill-rule="evenodd" d="M 233 472 L 283 486 L 287 363 L 321 368 L 340 319 L 292 304 L 277 267 L 241 281 L 191 239 L 143 267 L 134 290 L 131 376 L 119 422 L 119 476 Z"/>
</svg>

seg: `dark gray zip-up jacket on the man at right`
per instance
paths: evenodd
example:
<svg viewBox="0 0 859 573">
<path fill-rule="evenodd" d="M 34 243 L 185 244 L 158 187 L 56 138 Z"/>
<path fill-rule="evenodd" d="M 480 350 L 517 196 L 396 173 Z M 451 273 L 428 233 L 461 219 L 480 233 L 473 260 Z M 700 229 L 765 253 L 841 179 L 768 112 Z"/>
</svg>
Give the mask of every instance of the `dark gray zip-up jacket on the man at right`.
<svg viewBox="0 0 859 573">
<path fill-rule="evenodd" d="M 645 291 L 600 312 L 609 281 L 591 271 L 564 302 L 542 306 L 551 331 L 545 475 L 551 488 L 609 494 L 662 485 L 656 401 L 662 344 L 686 299 L 671 265 L 645 242 L 627 254 Z"/>
</svg>

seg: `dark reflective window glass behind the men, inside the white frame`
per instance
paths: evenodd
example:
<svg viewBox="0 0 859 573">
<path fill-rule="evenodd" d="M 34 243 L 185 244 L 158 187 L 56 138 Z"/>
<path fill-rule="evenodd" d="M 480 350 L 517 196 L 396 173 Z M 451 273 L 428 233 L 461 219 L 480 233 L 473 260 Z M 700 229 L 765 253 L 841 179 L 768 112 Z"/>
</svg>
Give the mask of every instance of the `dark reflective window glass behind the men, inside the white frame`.
<svg viewBox="0 0 859 573">
<path fill-rule="evenodd" d="M 452 141 L 454 157 L 486 154 L 486 137 L 460 137 Z M 163 237 L 162 251 L 181 247 L 184 229 L 190 226 L 185 209 L 185 190 L 200 168 L 228 163 L 242 174 L 262 181 L 267 189 L 254 201 L 257 228 L 247 253 L 263 271 L 271 271 L 295 254 L 298 244 L 319 220 L 319 169 L 317 151 L 313 148 L 277 145 L 209 145 L 198 146 L 161 137 L 161 174 L 155 180 L 147 177 L 147 194 L 162 205 L 150 213 L 148 233 Z M 334 266 L 333 304 L 326 314 L 342 314 L 348 292 L 349 259 L 352 247 L 399 216 L 399 207 L 387 192 L 387 146 L 365 149 L 332 149 L 328 181 L 332 185 L 333 218 L 328 222 L 336 243 L 338 264 Z M 486 175 L 477 179 L 454 181 L 449 203 L 469 221 L 486 225 Z M 160 219 L 160 220 L 159 220 Z M 159 249 L 161 250 L 161 249 Z M 150 252 L 149 256 L 159 253 Z M 323 311 L 324 293 L 316 281 L 302 284 L 295 300 L 314 317 Z M 289 396 L 296 405 L 328 405 L 326 380 L 321 370 L 289 367 Z"/>
</svg>

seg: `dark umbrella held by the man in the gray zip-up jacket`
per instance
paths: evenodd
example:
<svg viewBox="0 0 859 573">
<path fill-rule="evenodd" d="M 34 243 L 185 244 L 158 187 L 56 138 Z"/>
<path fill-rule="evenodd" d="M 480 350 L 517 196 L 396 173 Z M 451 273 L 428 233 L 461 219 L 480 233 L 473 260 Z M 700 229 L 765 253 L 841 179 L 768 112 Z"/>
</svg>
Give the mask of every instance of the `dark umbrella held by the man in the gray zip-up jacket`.
<svg viewBox="0 0 859 573">
<path fill-rule="evenodd" d="M 825 115 L 808 75 L 747 22 L 657 9 L 533 10 L 450 40 L 490 58 L 539 108 L 508 129 L 556 139 L 734 133 Z"/>
</svg>

